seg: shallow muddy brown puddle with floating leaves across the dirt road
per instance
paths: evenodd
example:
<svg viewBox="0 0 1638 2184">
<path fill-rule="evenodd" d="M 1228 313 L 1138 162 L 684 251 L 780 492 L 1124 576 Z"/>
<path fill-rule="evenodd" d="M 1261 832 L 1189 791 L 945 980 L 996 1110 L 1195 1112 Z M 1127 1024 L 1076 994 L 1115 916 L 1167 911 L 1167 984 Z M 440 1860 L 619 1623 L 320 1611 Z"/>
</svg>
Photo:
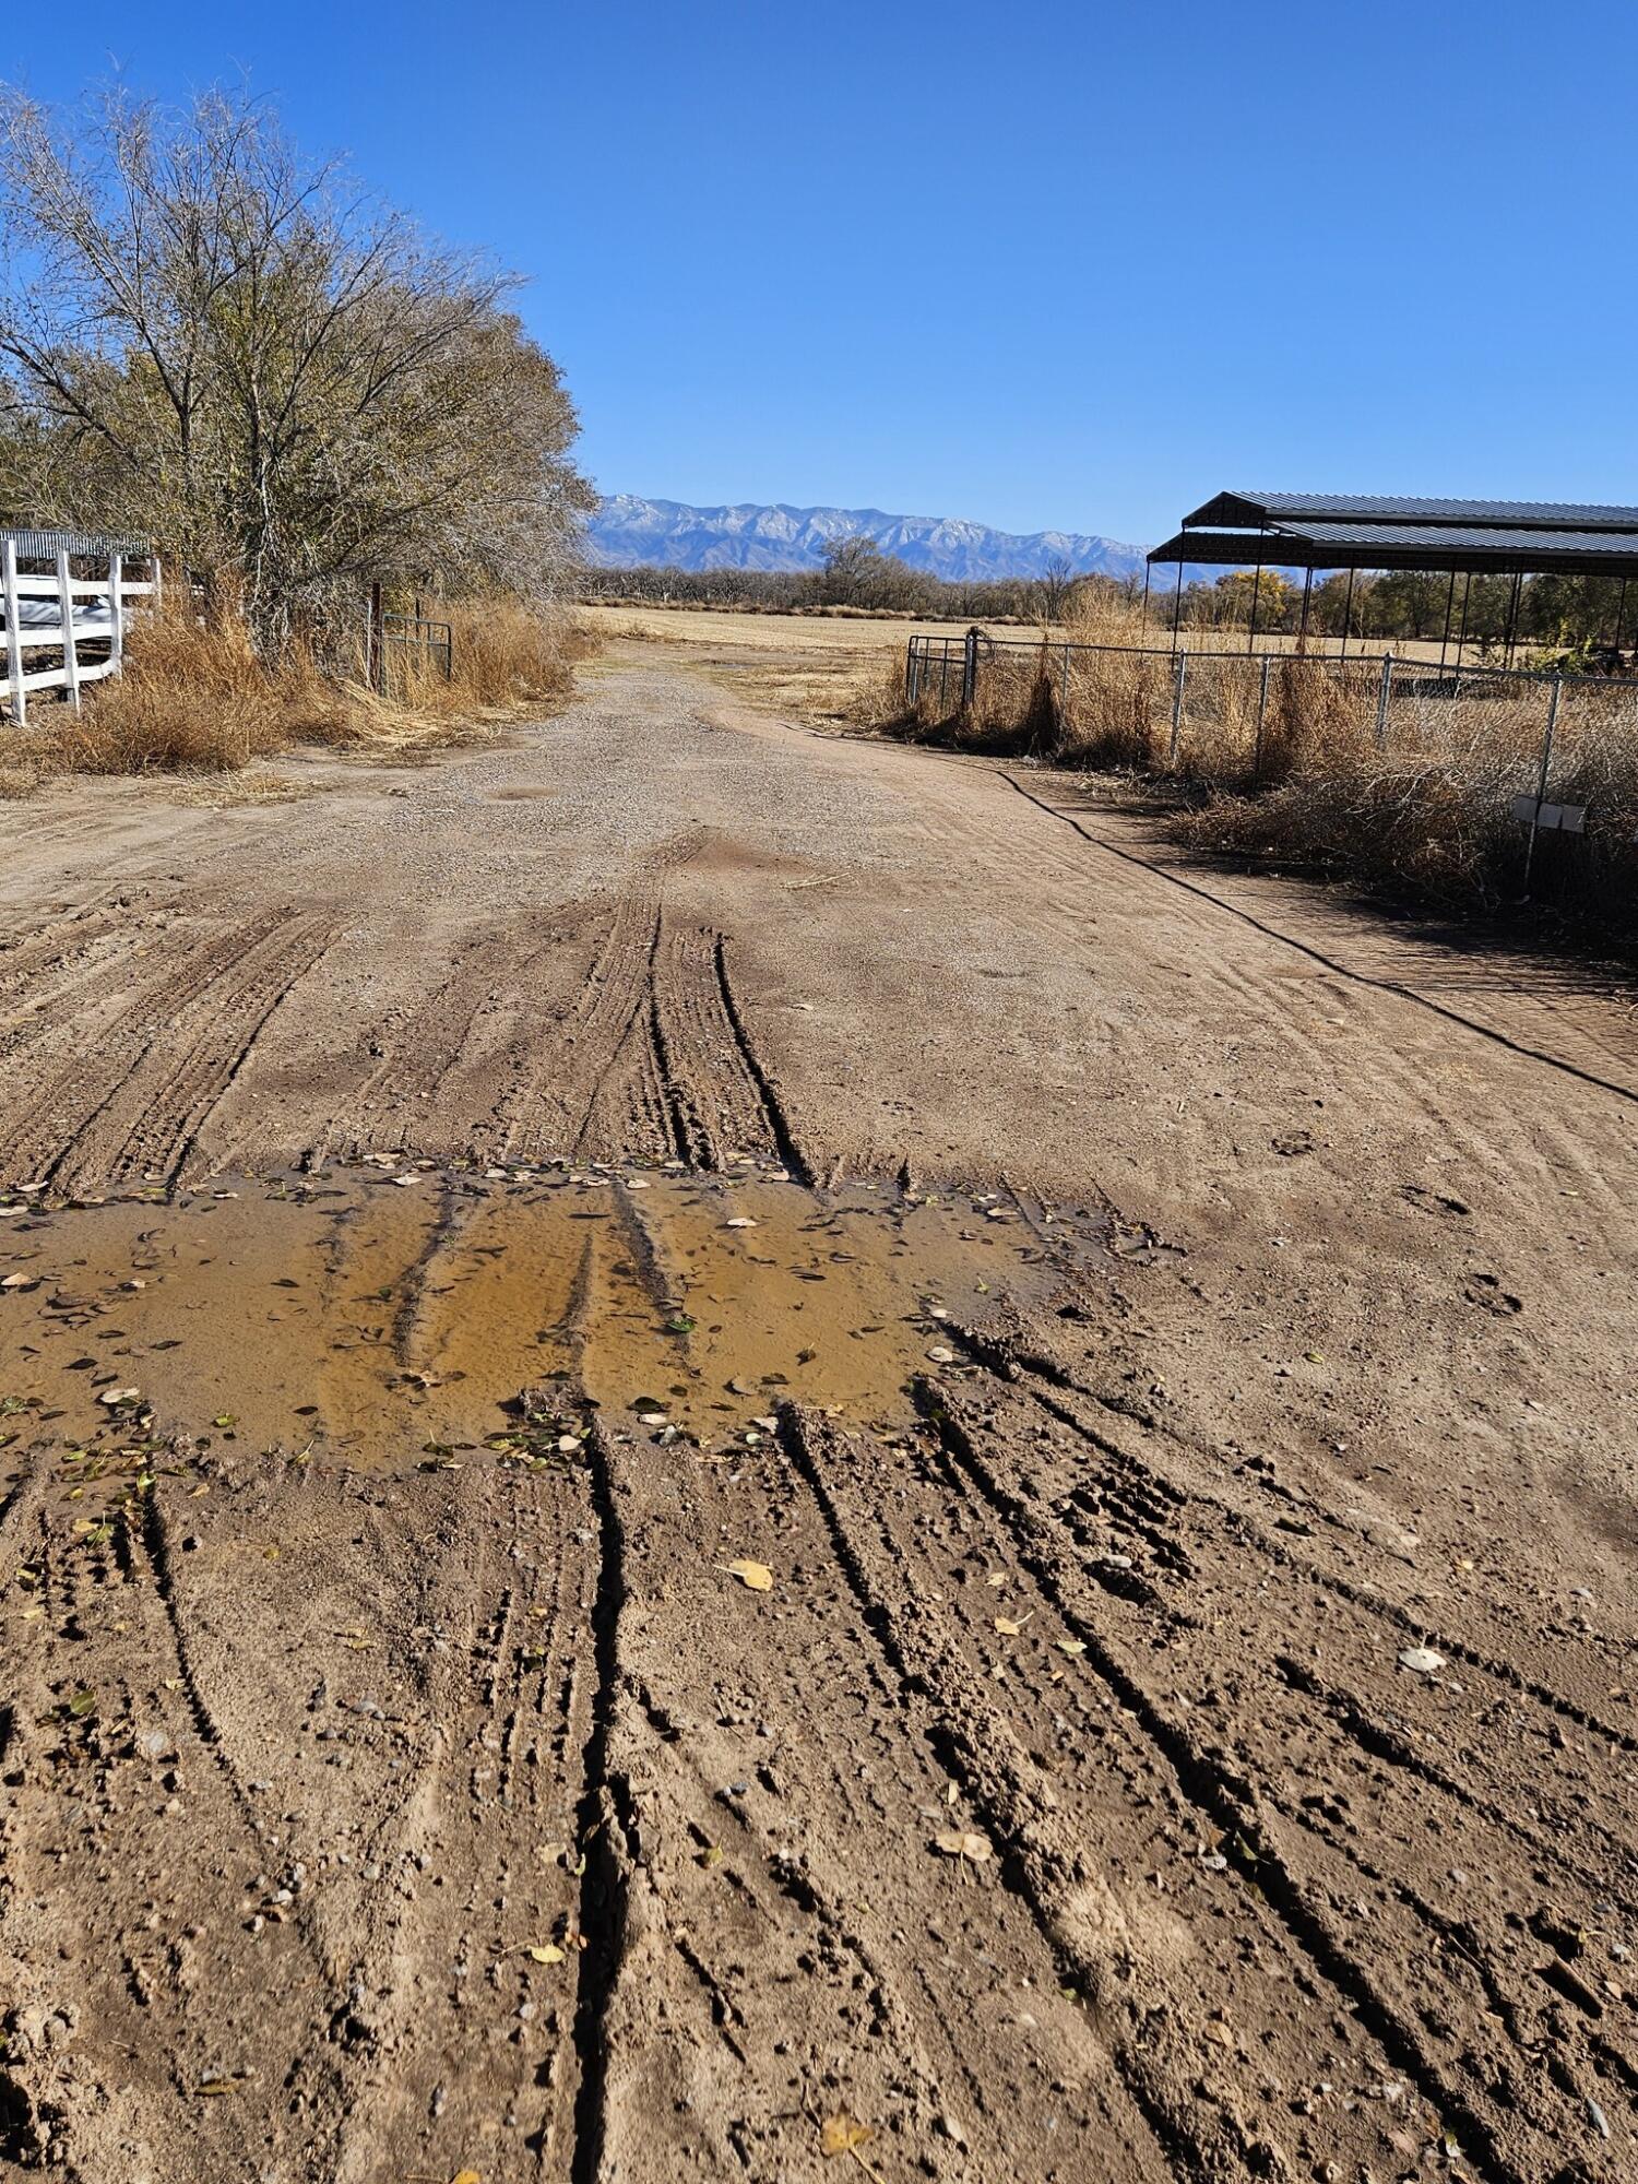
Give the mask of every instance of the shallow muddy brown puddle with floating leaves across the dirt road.
<svg viewBox="0 0 1638 2184">
<path fill-rule="evenodd" d="M 0 1446 L 179 1435 L 380 1468 L 546 1455 L 557 1413 L 721 1452 L 778 1402 L 913 1413 L 941 1315 L 1057 1299 L 1092 1219 L 1011 1197 L 376 1164 L 0 1201 Z M 935 1361 L 937 1363 L 937 1361 Z M 522 1391 L 529 1415 L 518 1409 Z"/>
</svg>

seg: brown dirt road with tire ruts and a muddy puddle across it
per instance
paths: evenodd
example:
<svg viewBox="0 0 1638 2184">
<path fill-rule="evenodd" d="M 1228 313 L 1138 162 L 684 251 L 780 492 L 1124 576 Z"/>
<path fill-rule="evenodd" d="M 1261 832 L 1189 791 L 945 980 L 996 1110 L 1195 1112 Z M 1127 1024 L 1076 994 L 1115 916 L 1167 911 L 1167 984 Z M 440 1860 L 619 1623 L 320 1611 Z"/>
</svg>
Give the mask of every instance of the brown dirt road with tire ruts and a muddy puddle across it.
<svg viewBox="0 0 1638 2184">
<path fill-rule="evenodd" d="M 1631 2175 L 1629 992 L 734 668 L 0 806 L 0 2173 Z"/>
</svg>

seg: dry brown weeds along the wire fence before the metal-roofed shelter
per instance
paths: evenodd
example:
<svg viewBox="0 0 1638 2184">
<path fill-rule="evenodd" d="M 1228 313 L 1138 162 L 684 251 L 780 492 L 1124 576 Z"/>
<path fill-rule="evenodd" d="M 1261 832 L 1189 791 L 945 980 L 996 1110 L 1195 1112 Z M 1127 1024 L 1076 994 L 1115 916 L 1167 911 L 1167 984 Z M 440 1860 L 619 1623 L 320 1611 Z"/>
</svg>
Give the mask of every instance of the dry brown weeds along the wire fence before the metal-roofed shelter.
<svg viewBox="0 0 1638 2184">
<path fill-rule="evenodd" d="M 1638 681 L 968 631 L 909 640 L 904 710 L 972 749 L 1210 788 L 1199 843 L 1638 933 Z"/>
</svg>

